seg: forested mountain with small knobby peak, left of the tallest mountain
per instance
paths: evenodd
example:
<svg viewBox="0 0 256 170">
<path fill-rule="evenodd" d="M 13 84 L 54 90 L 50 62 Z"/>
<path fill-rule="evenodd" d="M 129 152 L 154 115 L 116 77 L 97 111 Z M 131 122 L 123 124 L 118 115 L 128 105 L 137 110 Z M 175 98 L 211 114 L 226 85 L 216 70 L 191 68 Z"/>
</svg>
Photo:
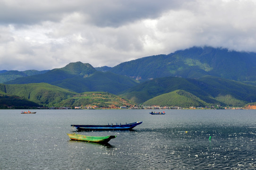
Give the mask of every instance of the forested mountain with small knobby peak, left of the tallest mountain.
<svg viewBox="0 0 256 170">
<path fill-rule="evenodd" d="M 64 68 L 55 68 L 45 74 L 5 82 L 5 84 L 30 83 L 49 83 L 77 93 L 101 91 L 113 94 L 138 84 L 136 80 L 127 76 L 96 71 L 90 64 L 82 62 L 69 63 Z"/>
</svg>

